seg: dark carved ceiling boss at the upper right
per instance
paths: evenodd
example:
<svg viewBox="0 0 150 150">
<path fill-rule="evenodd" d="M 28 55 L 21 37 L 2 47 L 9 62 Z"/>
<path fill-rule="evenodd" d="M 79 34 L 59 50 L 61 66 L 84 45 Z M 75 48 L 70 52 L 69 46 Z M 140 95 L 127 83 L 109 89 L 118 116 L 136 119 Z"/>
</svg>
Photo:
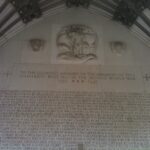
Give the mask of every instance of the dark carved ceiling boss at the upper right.
<svg viewBox="0 0 150 150">
<path fill-rule="evenodd" d="M 114 19 L 130 27 L 149 4 L 150 0 L 121 0 Z"/>
</svg>

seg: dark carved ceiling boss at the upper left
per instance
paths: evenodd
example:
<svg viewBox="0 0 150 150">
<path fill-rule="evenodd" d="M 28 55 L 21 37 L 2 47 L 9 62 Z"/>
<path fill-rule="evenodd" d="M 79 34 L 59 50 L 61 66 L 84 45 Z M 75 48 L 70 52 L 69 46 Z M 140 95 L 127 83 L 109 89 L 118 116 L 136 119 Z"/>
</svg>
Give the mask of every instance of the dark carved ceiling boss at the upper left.
<svg viewBox="0 0 150 150">
<path fill-rule="evenodd" d="M 38 0 L 10 0 L 14 5 L 24 23 L 32 21 L 41 16 Z"/>
</svg>

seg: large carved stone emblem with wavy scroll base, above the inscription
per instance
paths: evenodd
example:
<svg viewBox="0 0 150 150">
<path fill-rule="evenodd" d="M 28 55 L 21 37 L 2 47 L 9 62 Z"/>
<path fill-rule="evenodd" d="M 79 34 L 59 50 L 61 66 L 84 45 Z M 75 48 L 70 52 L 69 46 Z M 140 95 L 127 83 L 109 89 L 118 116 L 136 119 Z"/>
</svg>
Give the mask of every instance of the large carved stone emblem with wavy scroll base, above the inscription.
<svg viewBox="0 0 150 150">
<path fill-rule="evenodd" d="M 63 27 L 56 39 L 58 59 L 87 62 L 97 59 L 98 36 L 86 25 L 73 24 Z"/>
</svg>

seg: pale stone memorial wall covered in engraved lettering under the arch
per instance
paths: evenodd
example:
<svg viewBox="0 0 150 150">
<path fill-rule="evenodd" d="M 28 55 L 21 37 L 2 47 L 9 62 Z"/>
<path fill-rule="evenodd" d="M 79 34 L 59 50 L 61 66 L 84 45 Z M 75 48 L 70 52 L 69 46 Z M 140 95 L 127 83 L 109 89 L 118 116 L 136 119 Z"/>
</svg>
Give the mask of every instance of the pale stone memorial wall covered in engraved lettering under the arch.
<svg viewBox="0 0 150 150">
<path fill-rule="evenodd" d="M 149 56 L 83 9 L 29 27 L 0 48 L 0 150 L 150 150 Z"/>
</svg>

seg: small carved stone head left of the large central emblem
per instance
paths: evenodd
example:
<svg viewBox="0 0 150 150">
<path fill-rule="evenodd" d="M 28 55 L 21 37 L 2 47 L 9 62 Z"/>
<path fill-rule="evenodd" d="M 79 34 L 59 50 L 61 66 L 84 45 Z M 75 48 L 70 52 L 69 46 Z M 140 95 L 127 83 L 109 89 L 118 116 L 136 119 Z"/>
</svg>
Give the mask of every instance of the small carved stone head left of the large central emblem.
<svg viewBox="0 0 150 150">
<path fill-rule="evenodd" d="M 44 48 L 45 41 L 42 39 L 31 39 L 30 46 L 34 52 L 38 52 Z"/>
</svg>

